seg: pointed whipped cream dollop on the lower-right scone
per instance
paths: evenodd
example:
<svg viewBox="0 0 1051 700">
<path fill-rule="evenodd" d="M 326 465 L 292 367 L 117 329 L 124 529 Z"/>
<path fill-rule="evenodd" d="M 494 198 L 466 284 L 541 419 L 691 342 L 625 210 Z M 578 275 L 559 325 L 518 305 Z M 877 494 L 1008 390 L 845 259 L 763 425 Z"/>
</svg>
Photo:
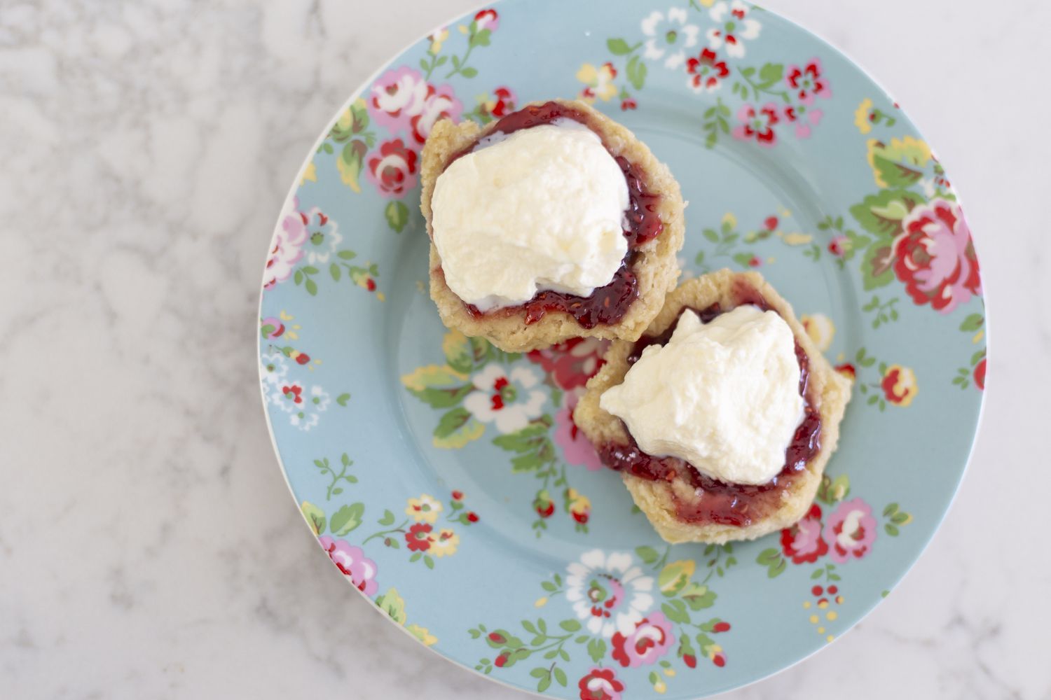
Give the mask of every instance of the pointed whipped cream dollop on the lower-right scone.
<svg viewBox="0 0 1051 700">
<path fill-rule="evenodd" d="M 685 310 L 668 342 L 646 347 L 599 405 L 648 454 L 721 482 L 765 484 L 803 420 L 799 380 L 796 339 L 777 313 L 738 306 L 703 323 Z"/>
</svg>

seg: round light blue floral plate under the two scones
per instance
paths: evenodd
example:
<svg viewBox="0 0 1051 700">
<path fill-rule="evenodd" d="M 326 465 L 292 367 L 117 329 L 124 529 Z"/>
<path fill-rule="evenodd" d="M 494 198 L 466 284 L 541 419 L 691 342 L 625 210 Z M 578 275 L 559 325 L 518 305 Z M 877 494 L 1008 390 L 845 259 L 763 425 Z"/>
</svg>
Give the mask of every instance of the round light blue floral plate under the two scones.
<svg viewBox="0 0 1051 700">
<path fill-rule="evenodd" d="M 419 150 L 580 97 L 691 201 L 684 276 L 756 268 L 854 393 L 805 519 L 668 547 L 572 410 L 602 345 L 511 355 L 427 291 Z M 784 669 L 904 575 L 963 475 L 985 383 L 977 260 L 930 147 L 861 69 L 740 0 L 506 0 L 405 50 L 326 128 L 260 312 L 285 475 L 348 582 L 447 658 L 563 698 L 685 698 Z"/>
</svg>

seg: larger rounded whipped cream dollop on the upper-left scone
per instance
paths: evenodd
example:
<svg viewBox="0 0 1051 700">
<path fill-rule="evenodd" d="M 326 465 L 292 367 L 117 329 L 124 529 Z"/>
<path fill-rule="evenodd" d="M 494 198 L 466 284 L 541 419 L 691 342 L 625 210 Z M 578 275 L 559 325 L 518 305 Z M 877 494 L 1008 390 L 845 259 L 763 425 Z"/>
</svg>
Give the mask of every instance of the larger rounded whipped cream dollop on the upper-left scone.
<svg viewBox="0 0 1051 700">
<path fill-rule="evenodd" d="M 578 122 L 487 136 L 434 185 L 431 226 L 446 283 L 483 312 L 541 290 L 589 296 L 627 252 L 627 204 L 620 166 Z"/>
</svg>

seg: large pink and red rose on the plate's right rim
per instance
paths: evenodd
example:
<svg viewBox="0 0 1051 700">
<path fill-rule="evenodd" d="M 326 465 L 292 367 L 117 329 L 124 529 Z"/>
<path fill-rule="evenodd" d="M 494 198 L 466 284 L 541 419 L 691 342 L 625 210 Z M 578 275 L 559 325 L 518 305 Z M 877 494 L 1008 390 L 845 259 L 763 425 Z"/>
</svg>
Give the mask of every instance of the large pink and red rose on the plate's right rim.
<svg viewBox="0 0 1051 700">
<path fill-rule="evenodd" d="M 948 314 L 982 293 L 971 229 L 955 201 L 931 199 L 902 219 L 894 274 L 916 304 Z"/>
</svg>

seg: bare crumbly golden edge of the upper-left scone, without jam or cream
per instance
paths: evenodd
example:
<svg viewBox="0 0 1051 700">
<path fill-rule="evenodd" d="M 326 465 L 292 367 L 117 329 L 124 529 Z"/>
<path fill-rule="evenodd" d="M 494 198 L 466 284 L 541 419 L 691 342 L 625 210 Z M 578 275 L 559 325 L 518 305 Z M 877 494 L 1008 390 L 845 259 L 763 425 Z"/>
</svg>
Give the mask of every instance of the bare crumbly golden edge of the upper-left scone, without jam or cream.
<svg viewBox="0 0 1051 700">
<path fill-rule="evenodd" d="M 685 204 L 682 200 L 679 183 L 672 175 L 672 171 L 658 161 L 634 133 L 590 105 L 576 100 L 554 102 L 588 114 L 589 126 L 602 137 L 614 156 L 623 155 L 630 163 L 642 168 L 648 191 L 661 197 L 658 215 L 664 228 L 659 236 L 637 249 L 640 255 L 633 269 L 638 276 L 639 296 L 616 324 L 600 323 L 594 328 L 584 328 L 571 315 L 554 311 L 548 312 L 543 318 L 530 325 L 524 323 L 524 311 L 521 310 L 510 315 L 496 313 L 474 318 L 468 313 L 463 301 L 446 284 L 441 258 L 434 246 L 434 231 L 431 228 L 431 195 L 434 192 L 434 183 L 445 171 L 449 160 L 475 140 L 493 131 L 496 122 L 488 124 L 485 128 L 479 128 L 470 121 L 457 125 L 450 120 L 442 120 L 435 124 L 427 143 L 424 144 L 419 170 L 423 183 L 419 209 L 427 221 L 427 235 L 431 238 L 431 298 L 434 299 L 438 315 L 447 326 L 459 330 L 467 336 L 486 338 L 509 353 L 548 347 L 570 338 L 586 336 L 637 340 L 660 312 L 664 305 L 665 295 L 675 289 L 679 278 L 679 263 L 676 256 L 682 248 L 685 235 L 683 219 Z"/>
</svg>

